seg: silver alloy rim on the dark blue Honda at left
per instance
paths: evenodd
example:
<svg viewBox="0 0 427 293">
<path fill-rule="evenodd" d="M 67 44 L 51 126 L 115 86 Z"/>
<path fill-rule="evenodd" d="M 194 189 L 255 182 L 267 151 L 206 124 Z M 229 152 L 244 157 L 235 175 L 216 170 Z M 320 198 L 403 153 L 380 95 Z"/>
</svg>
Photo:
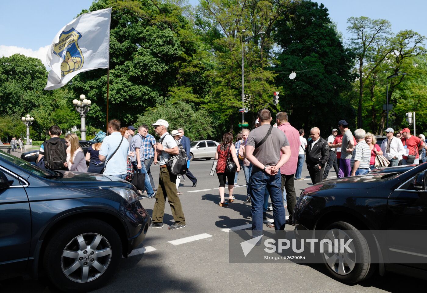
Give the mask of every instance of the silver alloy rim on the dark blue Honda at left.
<svg viewBox="0 0 427 293">
<path fill-rule="evenodd" d="M 78 283 L 93 281 L 102 275 L 111 261 L 108 240 L 97 233 L 84 233 L 73 238 L 61 255 L 61 269 Z"/>
</svg>

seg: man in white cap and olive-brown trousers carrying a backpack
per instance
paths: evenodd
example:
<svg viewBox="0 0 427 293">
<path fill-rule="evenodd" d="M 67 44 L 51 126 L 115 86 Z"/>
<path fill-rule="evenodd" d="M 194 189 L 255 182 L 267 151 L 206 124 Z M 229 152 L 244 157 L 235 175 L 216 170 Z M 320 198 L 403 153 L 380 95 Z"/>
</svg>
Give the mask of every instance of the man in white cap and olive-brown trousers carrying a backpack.
<svg viewBox="0 0 427 293">
<path fill-rule="evenodd" d="M 158 164 L 160 165 L 159 174 L 159 185 L 156 193 L 156 202 L 153 208 L 152 222 L 149 228 L 162 228 L 164 206 L 166 198 L 169 201 L 170 209 L 172 211 L 173 219 L 175 223 L 169 226 L 169 230 L 175 230 L 185 228 L 184 212 L 182 211 L 181 201 L 176 194 L 176 175 L 170 172 L 170 168 L 167 167 L 167 161 L 169 161 L 170 155 L 178 155 L 178 144 L 172 135 L 167 132 L 169 123 L 166 120 L 159 119 L 152 124 L 154 131 L 160 136 L 160 143 L 156 143 L 156 152 Z"/>
</svg>

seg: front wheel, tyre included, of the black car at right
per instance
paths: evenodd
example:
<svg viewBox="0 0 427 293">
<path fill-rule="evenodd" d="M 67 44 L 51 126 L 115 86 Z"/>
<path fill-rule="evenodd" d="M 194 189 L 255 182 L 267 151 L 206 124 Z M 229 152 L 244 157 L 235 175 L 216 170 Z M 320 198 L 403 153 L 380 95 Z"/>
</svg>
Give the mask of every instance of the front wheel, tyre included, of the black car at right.
<svg viewBox="0 0 427 293">
<path fill-rule="evenodd" d="M 332 252 L 329 252 L 330 246 L 324 243 L 323 252 L 320 255 L 333 278 L 344 283 L 357 283 L 369 277 L 373 267 L 371 267 L 368 241 L 363 234 L 346 222 L 332 223 L 326 227 L 325 231 L 321 239 L 331 240 Z M 335 247 L 334 241 L 336 239 L 338 240 L 337 247 Z M 348 252 L 347 249 L 340 246 L 341 240 L 343 243 L 347 243 L 349 239 L 352 239 L 348 244 L 352 252 Z"/>
</svg>

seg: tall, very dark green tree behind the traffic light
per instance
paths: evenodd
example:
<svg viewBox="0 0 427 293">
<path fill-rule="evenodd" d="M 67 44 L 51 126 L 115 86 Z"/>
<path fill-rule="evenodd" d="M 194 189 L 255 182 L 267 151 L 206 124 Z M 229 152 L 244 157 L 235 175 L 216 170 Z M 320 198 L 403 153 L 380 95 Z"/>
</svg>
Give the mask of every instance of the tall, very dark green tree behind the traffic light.
<svg viewBox="0 0 427 293">
<path fill-rule="evenodd" d="M 275 23 L 275 41 L 284 88 L 279 103 L 293 126 L 314 127 L 329 133 L 340 119 L 349 123 L 354 111 L 346 93 L 351 90 L 353 55 L 339 39 L 328 9 L 311 1 L 295 3 Z M 289 74 L 297 71 L 295 79 Z"/>
</svg>

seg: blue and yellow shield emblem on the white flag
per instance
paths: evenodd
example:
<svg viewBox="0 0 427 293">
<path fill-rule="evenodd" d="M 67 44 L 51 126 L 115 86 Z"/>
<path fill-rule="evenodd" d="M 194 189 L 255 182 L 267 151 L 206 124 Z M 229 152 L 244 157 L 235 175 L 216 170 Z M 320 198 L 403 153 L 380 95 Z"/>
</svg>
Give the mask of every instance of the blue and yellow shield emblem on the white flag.
<svg viewBox="0 0 427 293">
<path fill-rule="evenodd" d="M 53 53 L 64 59 L 61 63 L 61 77 L 83 67 L 85 58 L 79 48 L 79 44 L 77 44 L 81 37 L 82 35 L 72 28 L 67 32 L 62 32 L 58 43 L 53 46 Z"/>
</svg>

